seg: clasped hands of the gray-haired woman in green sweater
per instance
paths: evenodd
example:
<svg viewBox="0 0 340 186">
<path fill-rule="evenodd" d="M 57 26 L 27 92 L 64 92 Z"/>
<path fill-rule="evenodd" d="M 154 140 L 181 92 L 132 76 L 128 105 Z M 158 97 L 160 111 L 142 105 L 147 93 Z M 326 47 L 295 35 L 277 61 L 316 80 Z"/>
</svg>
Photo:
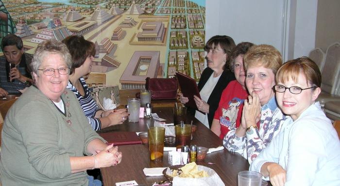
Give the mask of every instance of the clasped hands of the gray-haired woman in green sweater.
<svg viewBox="0 0 340 186">
<path fill-rule="evenodd" d="M 108 145 L 103 151 L 98 151 L 95 168 L 116 166 L 121 162 L 122 154 L 118 151 L 118 146 Z"/>
</svg>

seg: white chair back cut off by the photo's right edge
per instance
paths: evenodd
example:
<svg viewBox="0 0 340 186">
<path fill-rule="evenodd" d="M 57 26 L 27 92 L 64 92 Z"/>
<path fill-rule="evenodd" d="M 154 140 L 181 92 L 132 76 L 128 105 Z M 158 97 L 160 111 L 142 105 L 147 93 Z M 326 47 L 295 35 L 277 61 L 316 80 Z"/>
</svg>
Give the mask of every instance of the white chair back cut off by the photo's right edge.
<svg viewBox="0 0 340 186">
<path fill-rule="evenodd" d="M 327 48 L 326 60 L 322 71 L 321 89 L 323 92 L 338 93 L 340 73 L 340 43 L 336 42 Z"/>
</svg>

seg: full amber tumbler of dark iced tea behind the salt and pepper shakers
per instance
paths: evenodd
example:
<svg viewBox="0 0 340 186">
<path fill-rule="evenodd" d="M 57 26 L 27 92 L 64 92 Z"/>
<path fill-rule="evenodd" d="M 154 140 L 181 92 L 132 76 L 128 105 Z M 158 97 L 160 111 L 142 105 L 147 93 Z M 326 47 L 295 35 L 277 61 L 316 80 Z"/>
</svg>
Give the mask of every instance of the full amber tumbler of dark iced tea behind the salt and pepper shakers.
<svg viewBox="0 0 340 186">
<path fill-rule="evenodd" d="M 180 149 L 183 145 L 190 145 L 191 142 L 191 125 L 177 124 L 175 126 L 176 132 L 176 148 Z"/>
</svg>

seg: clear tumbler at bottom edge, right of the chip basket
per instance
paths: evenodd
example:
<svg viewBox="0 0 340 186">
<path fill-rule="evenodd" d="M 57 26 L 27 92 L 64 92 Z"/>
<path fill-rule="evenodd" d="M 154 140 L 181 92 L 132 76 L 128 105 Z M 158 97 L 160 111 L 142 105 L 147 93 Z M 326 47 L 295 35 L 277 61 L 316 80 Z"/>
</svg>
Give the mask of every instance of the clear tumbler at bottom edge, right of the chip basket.
<svg viewBox="0 0 340 186">
<path fill-rule="evenodd" d="M 238 172 L 238 186 L 261 186 L 262 174 L 255 171 Z"/>
</svg>

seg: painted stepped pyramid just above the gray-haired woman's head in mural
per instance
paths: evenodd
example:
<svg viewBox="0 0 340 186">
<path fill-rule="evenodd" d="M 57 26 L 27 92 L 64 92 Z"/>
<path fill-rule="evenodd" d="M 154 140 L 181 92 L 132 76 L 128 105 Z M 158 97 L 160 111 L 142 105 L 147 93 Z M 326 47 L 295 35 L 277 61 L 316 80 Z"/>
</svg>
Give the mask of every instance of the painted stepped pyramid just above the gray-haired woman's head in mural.
<svg viewBox="0 0 340 186">
<path fill-rule="evenodd" d="M 70 35 L 73 35 L 73 33 L 69 31 L 65 25 L 62 25 L 60 19 L 51 19 L 47 25 L 47 28 L 36 34 L 36 36 L 31 39 L 31 42 L 41 43 L 48 39 L 62 41 Z"/>
</svg>

